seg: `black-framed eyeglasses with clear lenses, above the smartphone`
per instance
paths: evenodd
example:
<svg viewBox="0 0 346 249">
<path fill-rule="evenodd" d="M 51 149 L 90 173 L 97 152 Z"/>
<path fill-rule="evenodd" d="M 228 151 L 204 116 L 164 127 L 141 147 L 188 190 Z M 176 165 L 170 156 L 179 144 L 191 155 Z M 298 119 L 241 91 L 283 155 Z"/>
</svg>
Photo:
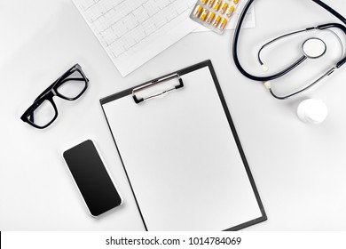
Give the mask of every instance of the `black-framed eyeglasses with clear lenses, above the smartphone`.
<svg viewBox="0 0 346 249">
<path fill-rule="evenodd" d="M 38 129 L 49 126 L 58 116 L 53 97 L 64 100 L 77 100 L 88 87 L 89 79 L 79 64 L 67 70 L 53 84 L 44 90 L 34 103 L 20 117 L 21 120 Z"/>
</svg>

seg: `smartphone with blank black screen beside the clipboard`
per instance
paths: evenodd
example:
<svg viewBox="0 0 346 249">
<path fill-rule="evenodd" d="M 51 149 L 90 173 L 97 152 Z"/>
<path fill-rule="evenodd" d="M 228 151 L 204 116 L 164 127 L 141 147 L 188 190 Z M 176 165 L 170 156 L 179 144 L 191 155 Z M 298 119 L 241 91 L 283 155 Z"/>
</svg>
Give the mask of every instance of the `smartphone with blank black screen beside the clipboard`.
<svg viewBox="0 0 346 249">
<path fill-rule="evenodd" d="M 83 141 L 67 149 L 63 157 L 91 216 L 96 217 L 122 204 L 122 198 L 92 141 Z"/>
</svg>

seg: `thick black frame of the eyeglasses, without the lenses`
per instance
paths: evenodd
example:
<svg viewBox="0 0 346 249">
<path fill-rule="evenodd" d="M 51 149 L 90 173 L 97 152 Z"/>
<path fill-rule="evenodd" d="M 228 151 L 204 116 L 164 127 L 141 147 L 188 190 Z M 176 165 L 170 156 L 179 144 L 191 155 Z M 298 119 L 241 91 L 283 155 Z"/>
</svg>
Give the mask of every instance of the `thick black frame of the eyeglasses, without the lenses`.
<svg viewBox="0 0 346 249">
<path fill-rule="evenodd" d="M 71 78 L 68 78 L 68 76 L 72 75 L 75 71 L 78 71 L 81 74 L 81 76 L 83 76 L 83 78 L 74 78 L 74 80 L 81 80 L 81 81 L 83 80 L 85 82 L 85 86 L 83 90 L 77 96 L 75 96 L 74 98 L 68 98 L 67 96 L 64 96 L 61 93 L 59 93 L 58 88 L 60 85 L 66 83 L 68 80 L 71 80 Z M 44 129 L 48 127 L 49 125 L 51 125 L 51 123 L 53 123 L 57 119 L 59 114 L 58 108 L 54 103 L 53 97 L 57 96 L 64 100 L 77 100 L 79 97 L 83 95 L 83 93 L 88 88 L 88 83 L 89 83 L 89 79 L 84 75 L 81 66 L 78 63 L 75 64 L 75 66 L 73 66 L 72 68 L 69 68 L 62 76 L 59 76 L 59 78 L 55 82 L 53 82 L 46 90 L 44 90 L 35 99 L 34 103 L 24 112 L 24 114 L 20 116 L 20 119 L 23 122 L 26 122 L 38 129 Z M 55 115 L 48 124 L 40 126 L 34 123 L 34 111 L 43 103 L 44 100 L 48 100 L 51 102 L 51 105 L 55 110 Z"/>
</svg>

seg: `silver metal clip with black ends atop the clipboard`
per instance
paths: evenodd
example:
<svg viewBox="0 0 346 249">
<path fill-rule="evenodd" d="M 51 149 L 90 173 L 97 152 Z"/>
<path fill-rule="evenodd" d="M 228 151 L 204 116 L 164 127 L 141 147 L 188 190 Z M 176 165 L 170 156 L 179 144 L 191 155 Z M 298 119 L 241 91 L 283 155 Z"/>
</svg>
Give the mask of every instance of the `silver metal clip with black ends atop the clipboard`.
<svg viewBox="0 0 346 249">
<path fill-rule="evenodd" d="M 177 78 L 179 84 L 167 89 L 167 90 L 164 90 L 164 91 L 161 91 L 161 92 L 158 92 L 158 93 L 155 93 L 155 94 L 152 94 L 152 95 L 149 95 L 147 97 L 143 97 L 143 98 L 137 98 L 136 96 L 136 93 L 137 92 L 140 92 L 140 91 L 143 91 L 145 90 L 146 88 L 149 88 L 149 87 L 152 87 L 156 84 L 160 84 L 162 82 L 166 82 L 166 81 L 169 81 L 171 79 L 174 79 L 174 78 Z M 152 98 L 155 98 L 155 97 L 158 97 L 164 93 L 167 93 L 167 92 L 171 92 L 173 90 L 177 90 L 179 88 L 182 88 L 184 86 L 184 83 L 183 83 L 183 80 L 181 79 L 181 77 L 178 75 L 178 74 L 173 74 L 173 75 L 169 75 L 169 76 L 164 76 L 164 77 L 161 77 L 161 78 L 158 78 L 158 79 L 155 79 L 154 81 L 150 82 L 150 83 L 147 83 L 147 84 L 144 84 L 144 85 L 141 85 L 141 86 L 138 86 L 136 88 L 134 88 L 132 90 L 132 97 L 133 97 L 133 100 L 135 100 L 136 104 L 144 101 L 144 100 L 149 100 L 149 99 L 152 99 Z"/>
</svg>

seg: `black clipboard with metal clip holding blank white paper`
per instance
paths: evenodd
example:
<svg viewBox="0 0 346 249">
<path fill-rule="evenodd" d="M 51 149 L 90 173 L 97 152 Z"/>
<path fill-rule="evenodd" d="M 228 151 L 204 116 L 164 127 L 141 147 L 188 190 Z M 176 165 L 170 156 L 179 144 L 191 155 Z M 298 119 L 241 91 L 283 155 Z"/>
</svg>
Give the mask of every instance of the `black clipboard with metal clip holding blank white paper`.
<svg viewBox="0 0 346 249">
<path fill-rule="evenodd" d="M 146 230 L 267 220 L 210 60 L 100 103 Z"/>
</svg>

